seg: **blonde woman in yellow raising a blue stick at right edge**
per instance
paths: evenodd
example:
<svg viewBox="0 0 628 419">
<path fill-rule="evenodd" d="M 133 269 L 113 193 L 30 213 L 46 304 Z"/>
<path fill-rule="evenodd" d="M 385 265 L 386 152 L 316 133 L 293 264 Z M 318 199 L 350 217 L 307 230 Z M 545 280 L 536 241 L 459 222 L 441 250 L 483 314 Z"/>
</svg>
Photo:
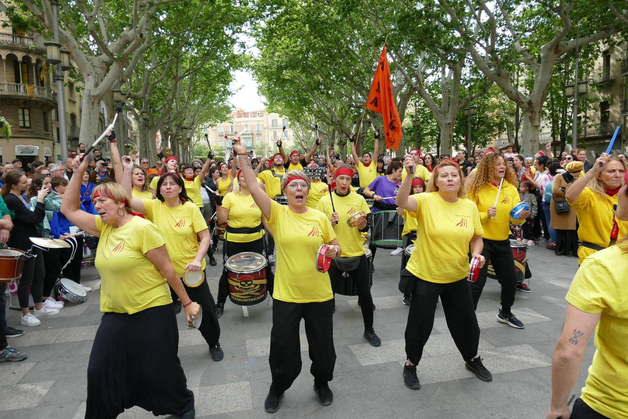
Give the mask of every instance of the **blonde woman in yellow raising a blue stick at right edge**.
<svg viewBox="0 0 628 419">
<path fill-rule="evenodd" d="M 617 237 L 628 233 L 628 223 L 615 218 L 617 195 L 626 165 L 614 155 L 602 154 L 587 174 L 578 177 L 565 198 L 578 215 L 578 264 L 585 257 L 613 245 Z"/>
</svg>

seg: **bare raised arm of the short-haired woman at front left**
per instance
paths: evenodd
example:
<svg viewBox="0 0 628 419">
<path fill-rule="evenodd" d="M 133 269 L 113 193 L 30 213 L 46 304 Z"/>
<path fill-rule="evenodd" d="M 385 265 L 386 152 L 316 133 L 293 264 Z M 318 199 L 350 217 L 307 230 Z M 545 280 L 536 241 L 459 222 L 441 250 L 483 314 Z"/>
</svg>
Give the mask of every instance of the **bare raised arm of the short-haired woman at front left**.
<svg viewBox="0 0 628 419">
<path fill-rule="evenodd" d="M 74 174 L 63 194 L 61 212 L 73 225 L 84 232 L 100 237 L 100 232 L 96 228 L 96 216 L 80 209 L 80 184 L 85 169 L 87 169 L 87 158 L 82 162 L 79 160 L 82 156 L 83 154 L 81 153 L 72 161 L 72 172 Z"/>
</svg>

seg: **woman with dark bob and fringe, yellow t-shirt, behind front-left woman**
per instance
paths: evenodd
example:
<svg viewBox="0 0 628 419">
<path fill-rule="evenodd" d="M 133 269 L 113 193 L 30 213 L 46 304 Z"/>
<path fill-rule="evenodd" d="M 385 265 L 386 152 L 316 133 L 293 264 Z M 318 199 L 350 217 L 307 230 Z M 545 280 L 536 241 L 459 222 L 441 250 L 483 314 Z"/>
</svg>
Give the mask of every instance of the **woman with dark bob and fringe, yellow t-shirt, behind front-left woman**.
<svg viewBox="0 0 628 419">
<path fill-rule="evenodd" d="M 127 156 L 122 157 L 124 169 L 122 186 L 127 192 L 131 187 L 129 181 L 132 167 L 131 159 Z M 130 204 L 134 210 L 146 215 L 146 218 L 159 228 L 178 277 L 183 277 L 187 271 L 202 271 L 204 277 L 205 254 L 210 243 L 209 229 L 200 210 L 185 191 L 183 179 L 175 172 L 162 174 L 157 182 L 156 198 L 143 201 L 132 197 Z M 200 243 L 197 237 L 200 238 Z M 183 286 L 190 298 L 203 308 L 203 321 L 198 331 L 209 345 L 212 359 L 219 361 L 224 356 L 219 342 L 220 326 L 215 315 L 214 297 L 209 291 L 207 281 L 203 280 L 196 287 L 190 287 L 183 282 Z M 172 297 L 175 299 L 175 296 Z M 178 304 L 175 299 L 176 305 Z"/>
</svg>

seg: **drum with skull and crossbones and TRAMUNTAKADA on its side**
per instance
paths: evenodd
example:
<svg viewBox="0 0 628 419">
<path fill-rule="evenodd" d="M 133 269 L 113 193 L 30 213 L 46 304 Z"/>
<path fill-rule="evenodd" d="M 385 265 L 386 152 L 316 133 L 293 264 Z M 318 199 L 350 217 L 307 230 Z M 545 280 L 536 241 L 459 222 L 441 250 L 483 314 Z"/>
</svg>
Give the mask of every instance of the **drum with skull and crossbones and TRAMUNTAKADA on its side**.
<svg viewBox="0 0 628 419">
<path fill-rule="evenodd" d="M 266 258 L 254 252 L 233 255 L 225 262 L 229 299 L 239 306 L 251 306 L 266 299 Z"/>
</svg>

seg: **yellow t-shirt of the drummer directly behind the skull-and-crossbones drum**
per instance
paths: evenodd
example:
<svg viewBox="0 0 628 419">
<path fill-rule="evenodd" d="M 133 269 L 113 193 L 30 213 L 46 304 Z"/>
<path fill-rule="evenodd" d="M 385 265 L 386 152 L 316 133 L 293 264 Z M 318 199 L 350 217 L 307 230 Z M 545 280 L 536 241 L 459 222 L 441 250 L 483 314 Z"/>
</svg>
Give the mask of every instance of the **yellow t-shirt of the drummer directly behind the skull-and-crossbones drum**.
<svg viewBox="0 0 628 419">
<path fill-rule="evenodd" d="M 262 211 L 259 209 L 251 194 L 230 193 L 222 199 L 222 208 L 229 210 L 229 226 L 233 228 L 253 228 L 262 223 Z M 264 229 L 257 233 L 241 234 L 226 233 L 229 242 L 247 243 L 257 240 L 264 235 Z"/>
</svg>

